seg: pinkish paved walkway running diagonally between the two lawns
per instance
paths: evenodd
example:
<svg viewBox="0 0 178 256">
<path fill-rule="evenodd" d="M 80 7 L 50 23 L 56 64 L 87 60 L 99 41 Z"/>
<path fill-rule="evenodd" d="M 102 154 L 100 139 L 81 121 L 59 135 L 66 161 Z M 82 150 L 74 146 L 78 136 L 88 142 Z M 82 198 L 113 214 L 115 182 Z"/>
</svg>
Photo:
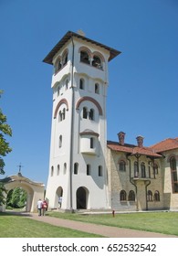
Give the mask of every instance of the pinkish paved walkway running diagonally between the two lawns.
<svg viewBox="0 0 178 256">
<path fill-rule="evenodd" d="M 77 229 L 80 231 L 102 235 L 107 238 L 178 238 L 173 235 L 165 235 L 154 232 L 140 231 L 134 229 L 120 229 L 116 227 L 108 227 L 91 223 L 84 223 L 69 219 L 58 219 L 48 216 L 38 216 L 37 213 L 26 215 L 29 219 L 46 222 L 48 224 L 64 227 L 68 229 Z"/>
</svg>

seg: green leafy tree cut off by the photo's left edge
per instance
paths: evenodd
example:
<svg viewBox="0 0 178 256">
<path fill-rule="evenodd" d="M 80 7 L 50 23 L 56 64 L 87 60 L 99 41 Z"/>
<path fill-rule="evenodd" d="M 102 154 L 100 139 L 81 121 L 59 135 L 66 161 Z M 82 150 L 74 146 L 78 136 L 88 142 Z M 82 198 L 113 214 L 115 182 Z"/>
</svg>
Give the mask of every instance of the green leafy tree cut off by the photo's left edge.
<svg viewBox="0 0 178 256">
<path fill-rule="evenodd" d="M 3 94 L 3 91 L 0 90 L 0 98 Z M 12 151 L 9 144 L 6 142 L 5 136 L 12 136 L 12 129 L 6 123 L 6 116 L 0 109 L 0 175 L 5 174 L 5 161 L 3 157 Z M 0 183 L 0 206 L 5 203 L 5 186 Z"/>
</svg>

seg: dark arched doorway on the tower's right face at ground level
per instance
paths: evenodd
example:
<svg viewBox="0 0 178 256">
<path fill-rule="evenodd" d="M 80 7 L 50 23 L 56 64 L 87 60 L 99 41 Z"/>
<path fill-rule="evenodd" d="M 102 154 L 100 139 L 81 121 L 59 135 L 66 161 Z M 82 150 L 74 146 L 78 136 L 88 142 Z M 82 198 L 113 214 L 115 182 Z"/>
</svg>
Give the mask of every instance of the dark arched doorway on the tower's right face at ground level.
<svg viewBox="0 0 178 256">
<path fill-rule="evenodd" d="M 89 191 L 86 187 L 79 187 L 76 193 L 77 209 L 86 209 L 89 197 Z"/>
</svg>

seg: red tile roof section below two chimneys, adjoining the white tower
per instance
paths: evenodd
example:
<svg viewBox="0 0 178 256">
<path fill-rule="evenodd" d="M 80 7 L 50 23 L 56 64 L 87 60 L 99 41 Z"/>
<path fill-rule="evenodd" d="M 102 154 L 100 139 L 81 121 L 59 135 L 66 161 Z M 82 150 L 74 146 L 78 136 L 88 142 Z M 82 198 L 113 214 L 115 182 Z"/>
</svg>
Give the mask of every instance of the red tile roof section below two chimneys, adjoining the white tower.
<svg viewBox="0 0 178 256">
<path fill-rule="evenodd" d="M 145 147 L 145 146 L 139 147 L 133 144 L 121 145 L 119 143 L 111 142 L 111 141 L 107 142 L 107 146 L 113 151 L 131 153 L 131 155 L 139 154 L 139 155 L 149 155 L 153 157 L 162 157 L 162 155 L 157 154 L 154 151 L 154 149 L 150 147 Z"/>
</svg>

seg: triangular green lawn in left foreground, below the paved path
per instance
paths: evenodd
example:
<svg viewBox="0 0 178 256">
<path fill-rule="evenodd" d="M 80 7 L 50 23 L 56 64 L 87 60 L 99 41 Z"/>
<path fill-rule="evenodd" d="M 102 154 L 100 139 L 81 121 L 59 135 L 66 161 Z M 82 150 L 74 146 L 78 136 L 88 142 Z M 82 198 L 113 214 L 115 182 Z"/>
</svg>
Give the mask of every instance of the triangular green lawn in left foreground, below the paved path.
<svg viewBox="0 0 178 256">
<path fill-rule="evenodd" d="M 74 229 L 55 227 L 26 217 L 0 213 L 0 238 L 99 238 Z"/>
</svg>

